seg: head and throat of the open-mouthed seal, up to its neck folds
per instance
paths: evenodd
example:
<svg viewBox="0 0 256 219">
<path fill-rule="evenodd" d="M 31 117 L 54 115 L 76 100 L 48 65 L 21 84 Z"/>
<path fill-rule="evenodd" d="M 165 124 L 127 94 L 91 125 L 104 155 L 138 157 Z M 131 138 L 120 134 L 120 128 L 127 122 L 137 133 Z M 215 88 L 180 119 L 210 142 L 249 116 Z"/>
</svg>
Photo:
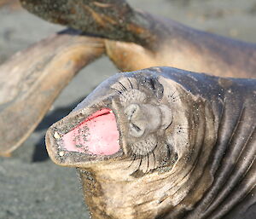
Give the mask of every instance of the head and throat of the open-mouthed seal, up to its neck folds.
<svg viewBox="0 0 256 219">
<path fill-rule="evenodd" d="M 214 141 L 211 129 L 206 102 L 151 69 L 103 82 L 49 128 L 46 144 L 56 164 L 79 167 L 94 215 L 132 218 L 144 211 L 144 218 L 164 214 L 189 193 L 201 146 Z"/>
</svg>

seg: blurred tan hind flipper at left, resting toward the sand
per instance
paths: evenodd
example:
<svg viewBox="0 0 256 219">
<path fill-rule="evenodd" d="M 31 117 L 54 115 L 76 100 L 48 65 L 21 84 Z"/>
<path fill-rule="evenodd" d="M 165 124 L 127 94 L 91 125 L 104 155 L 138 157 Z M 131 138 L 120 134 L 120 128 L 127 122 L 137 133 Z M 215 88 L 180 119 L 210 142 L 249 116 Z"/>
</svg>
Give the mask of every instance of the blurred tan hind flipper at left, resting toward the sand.
<svg viewBox="0 0 256 219">
<path fill-rule="evenodd" d="M 69 30 L 0 66 L 0 155 L 26 140 L 73 76 L 104 50 L 102 39 Z"/>
</svg>

